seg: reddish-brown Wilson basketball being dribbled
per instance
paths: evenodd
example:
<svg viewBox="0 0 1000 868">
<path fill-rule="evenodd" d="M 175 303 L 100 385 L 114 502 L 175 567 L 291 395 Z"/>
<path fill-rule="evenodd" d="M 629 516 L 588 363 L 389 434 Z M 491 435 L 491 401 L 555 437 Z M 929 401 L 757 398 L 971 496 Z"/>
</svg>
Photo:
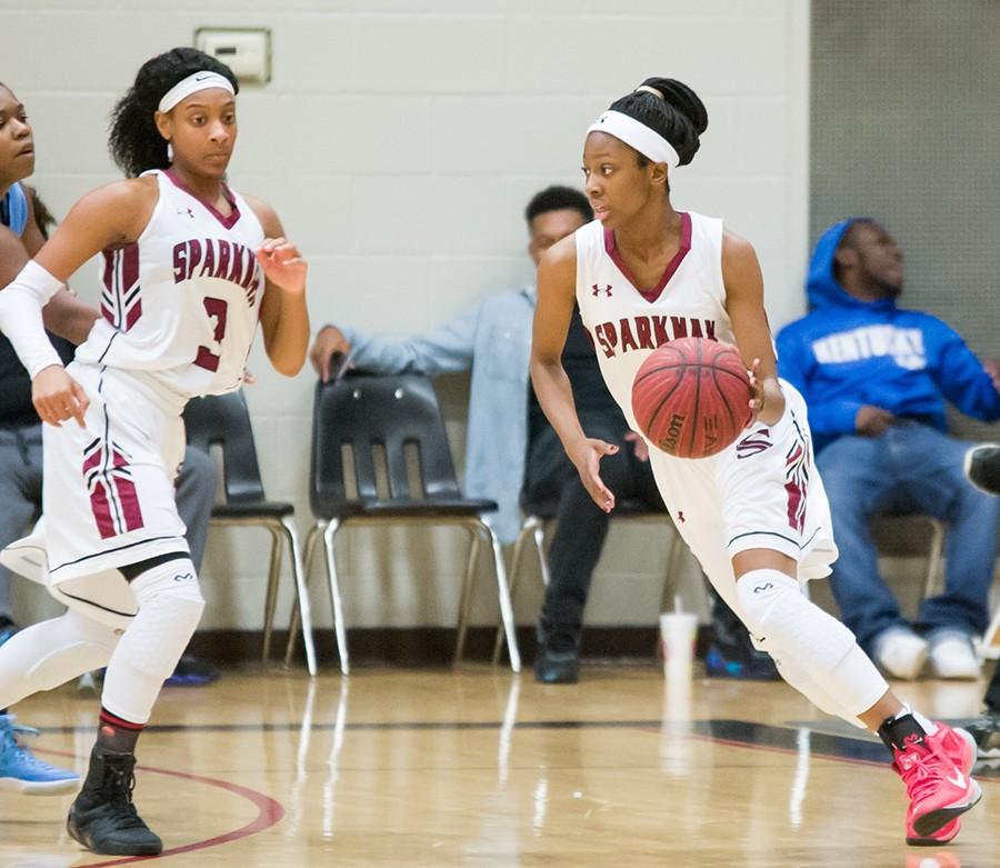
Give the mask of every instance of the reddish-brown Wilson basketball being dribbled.
<svg viewBox="0 0 1000 868">
<path fill-rule="evenodd" d="M 632 413 L 642 433 L 678 458 L 708 458 L 750 421 L 750 377 L 731 343 L 680 338 L 642 362 Z"/>
</svg>

